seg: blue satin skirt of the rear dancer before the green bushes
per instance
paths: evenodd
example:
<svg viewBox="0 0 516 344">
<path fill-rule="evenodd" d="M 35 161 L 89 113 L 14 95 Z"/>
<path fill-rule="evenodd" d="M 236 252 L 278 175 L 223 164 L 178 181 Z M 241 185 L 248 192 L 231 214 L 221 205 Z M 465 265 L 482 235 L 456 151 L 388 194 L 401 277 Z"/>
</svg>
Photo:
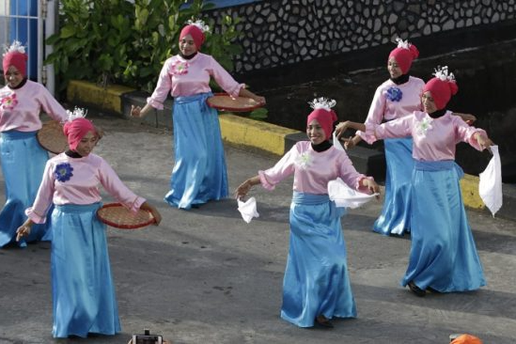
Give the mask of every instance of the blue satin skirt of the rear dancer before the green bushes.
<svg viewBox="0 0 516 344">
<path fill-rule="evenodd" d="M 174 158 L 171 190 L 164 200 L 189 209 L 227 197 L 228 175 L 219 117 L 206 105 L 211 93 L 174 100 Z"/>
</svg>

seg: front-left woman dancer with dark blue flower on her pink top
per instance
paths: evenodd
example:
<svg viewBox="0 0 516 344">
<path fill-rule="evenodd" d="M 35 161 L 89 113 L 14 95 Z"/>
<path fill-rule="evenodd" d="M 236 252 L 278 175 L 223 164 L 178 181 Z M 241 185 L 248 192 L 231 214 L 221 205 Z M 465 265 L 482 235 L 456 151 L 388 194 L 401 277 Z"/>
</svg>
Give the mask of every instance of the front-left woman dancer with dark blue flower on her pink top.
<svg viewBox="0 0 516 344">
<path fill-rule="evenodd" d="M 69 150 L 47 162 L 43 182 L 17 239 L 52 211 L 52 299 L 56 338 L 120 332 L 118 306 L 107 252 L 106 226 L 96 217 L 99 184 L 127 208 L 160 213 L 122 184 L 111 166 L 92 153 L 98 136 L 92 122 L 79 116 L 64 127 Z"/>
</svg>

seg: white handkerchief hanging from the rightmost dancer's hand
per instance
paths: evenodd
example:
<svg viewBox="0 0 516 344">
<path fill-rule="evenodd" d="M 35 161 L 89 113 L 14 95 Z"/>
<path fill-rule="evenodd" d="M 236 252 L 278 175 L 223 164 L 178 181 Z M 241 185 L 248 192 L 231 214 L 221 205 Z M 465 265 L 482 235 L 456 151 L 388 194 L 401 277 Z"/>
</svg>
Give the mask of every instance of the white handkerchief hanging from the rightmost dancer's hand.
<svg viewBox="0 0 516 344">
<path fill-rule="evenodd" d="M 502 208 L 502 162 L 498 152 L 498 146 L 491 146 L 493 158 L 487 165 L 484 172 L 480 173 L 478 193 L 484 204 L 495 217 L 495 213 Z"/>
</svg>

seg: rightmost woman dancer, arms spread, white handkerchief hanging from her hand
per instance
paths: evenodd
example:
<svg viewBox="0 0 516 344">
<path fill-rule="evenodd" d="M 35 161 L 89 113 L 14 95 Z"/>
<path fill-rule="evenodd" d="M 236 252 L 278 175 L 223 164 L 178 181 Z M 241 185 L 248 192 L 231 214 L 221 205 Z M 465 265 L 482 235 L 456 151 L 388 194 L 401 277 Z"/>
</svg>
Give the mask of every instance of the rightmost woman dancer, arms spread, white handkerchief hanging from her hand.
<svg viewBox="0 0 516 344">
<path fill-rule="evenodd" d="M 424 111 L 383 125 L 343 125 L 375 139 L 413 137 L 411 250 L 402 286 L 419 297 L 427 290 L 462 292 L 486 284 L 462 202 L 459 180 L 464 173 L 455 163 L 455 145 L 467 142 L 482 151 L 493 142 L 484 130 L 469 127 L 447 111 L 458 91 L 448 68 L 436 69 L 434 75 L 423 88 Z"/>
</svg>

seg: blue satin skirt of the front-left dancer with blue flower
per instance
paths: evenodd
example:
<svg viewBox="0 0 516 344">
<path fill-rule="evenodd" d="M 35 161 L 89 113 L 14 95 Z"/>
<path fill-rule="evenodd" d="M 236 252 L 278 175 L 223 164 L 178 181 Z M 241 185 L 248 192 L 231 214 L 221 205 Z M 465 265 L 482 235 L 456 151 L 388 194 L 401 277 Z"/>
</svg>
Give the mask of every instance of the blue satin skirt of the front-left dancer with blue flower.
<svg viewBox="0 0 516 344">
<path fill-rule="evenodd" d="M 56 338 L 120 332 L 101 204 L 56 206 L 52 212 L 52 299 Z"/>
</svg>

